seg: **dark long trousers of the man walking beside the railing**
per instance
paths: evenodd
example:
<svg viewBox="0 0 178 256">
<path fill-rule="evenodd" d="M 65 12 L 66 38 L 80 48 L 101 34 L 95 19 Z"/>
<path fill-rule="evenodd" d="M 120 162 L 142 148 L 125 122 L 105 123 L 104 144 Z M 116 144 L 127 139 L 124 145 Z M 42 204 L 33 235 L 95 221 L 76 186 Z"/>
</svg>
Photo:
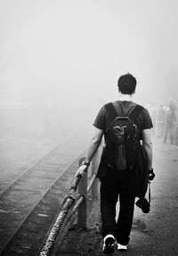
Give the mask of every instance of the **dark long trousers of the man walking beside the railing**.
<svg viewBox="0 0 178 256">
<path fill-rule="evenodd" d="M 116 203 L 119 196 L 119 214 L 116 220 Z M 111 234 L 117 243 L 126 245 L 134 217 L 135 195 L 129 192 L 128 178 L 119 178 L 117 171 L 107 171 L 107 177 L 101 181 L 101 219 L 102 237 Z"/>
</svg>

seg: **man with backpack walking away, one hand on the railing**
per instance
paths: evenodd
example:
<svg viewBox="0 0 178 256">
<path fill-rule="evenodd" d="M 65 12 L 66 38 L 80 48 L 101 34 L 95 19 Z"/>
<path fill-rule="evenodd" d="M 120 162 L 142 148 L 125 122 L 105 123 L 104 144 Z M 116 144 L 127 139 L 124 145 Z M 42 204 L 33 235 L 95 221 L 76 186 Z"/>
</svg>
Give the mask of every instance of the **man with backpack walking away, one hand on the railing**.
<svg viewBox="0 0 178 256">
<path fill-rule="evenodd" d="M 104 253 L 126 250 L 134 217 L 134 200 L 141 200 L 147 191 L 152 169 L 152 145 L 149 112 L 132 101 L 136 79 L 131 74 L 118 78 L 119 100 L 101 107 L 94 120 L 94 135 L 85 161 L 77 175 L 85 172 L 101 144 L 98 178 L 101 180 L 101 220 Z M 119 195 L 119 214 L 116 221 L 116 204 Z"/>
</svg>

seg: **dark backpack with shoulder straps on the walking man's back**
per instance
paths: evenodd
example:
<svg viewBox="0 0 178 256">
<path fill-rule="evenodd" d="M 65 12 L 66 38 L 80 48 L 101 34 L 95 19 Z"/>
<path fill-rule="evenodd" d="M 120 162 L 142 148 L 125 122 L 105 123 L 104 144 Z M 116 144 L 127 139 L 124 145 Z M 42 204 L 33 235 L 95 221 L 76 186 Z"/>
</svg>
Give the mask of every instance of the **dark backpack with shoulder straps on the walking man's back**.
<svg viewBox="0 0 178 256">
<path fill-rule="evenodd" d="M 137 104 L 128 116 L 117 113 L 112 103 L 106 104 L 105 107 L 110 120 L 105 136 L 106 161 L 119 171 L 133 169 L 136 163 L 136 149 L 139 144 L 136 119 L 143 107 Z"/>
</svg>

